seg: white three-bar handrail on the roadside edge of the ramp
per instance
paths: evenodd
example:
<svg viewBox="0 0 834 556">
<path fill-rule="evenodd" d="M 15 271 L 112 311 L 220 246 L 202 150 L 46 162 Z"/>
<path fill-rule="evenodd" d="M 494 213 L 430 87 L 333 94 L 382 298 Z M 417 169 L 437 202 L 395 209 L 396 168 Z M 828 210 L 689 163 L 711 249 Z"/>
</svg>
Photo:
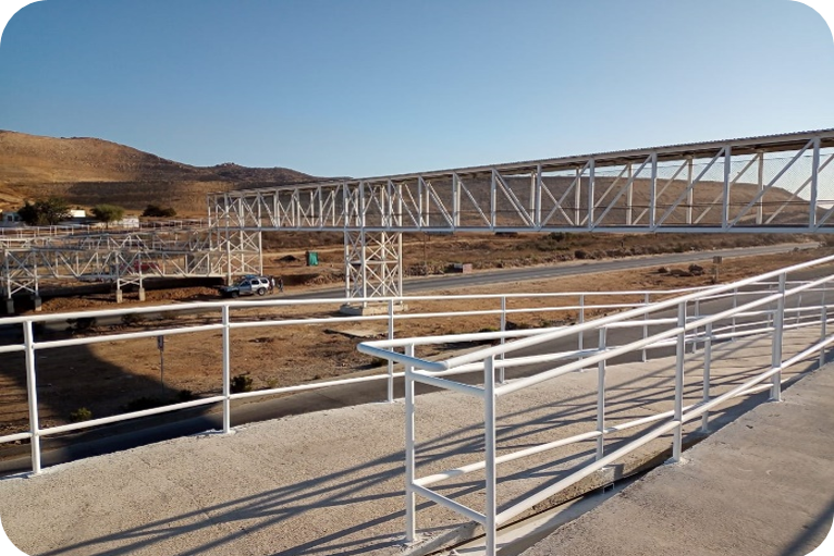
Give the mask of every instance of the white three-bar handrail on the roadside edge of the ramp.
<svg viewBox="0 0 834 556">
<path fill-rule="evenodd" d="M 813 288 L 813 284 L 807 285 L 807 288 Z M 206 398 L 200 398 L 197 400 L 186 401 L 186 403 L 180 403 L 180 404 L 172 404 L 159 408 L 152 408 L 147 409 L 143 411 L 134 411 L 130 413 L 123 413 L 118 416 L 111 416 L 89 421 L 84 421 L 79 423 L 71 423 L 66 425 L 59 425 L 59 427 L 50 427 L 47 429 L 40 429 L 38 427 L 32 427 L 32 430 L 28 432 L 23 433 L 15 433 L 13 435 L 7 435 L 7 436 L 0 436 L 0 444 L 7 443 L 7 442 L 13 442 L 16 440 L 32 440 L 33 441 L 33 470 L 35 472 L 39 472 L 40 470 L 40 461 L 39 461 L 39 438 L 42 436 L 49 436 L 54 434 L 60 434 L 63 432 L 69 431 L 77 431 L 82 429 L 87 429 L 91 427 L 98 427 L 102 424 L 110 424 L 115 423 L 119 421 L 124 421 L 128 419 L 135 419 L 139 417 L 147 417 L 151 415 L 159 415 L 168 411 L 175 411 L 181 410 L 185 408 L 191 407 L 197 407 L 197 406 L 209 406 L 214 405 L 218 403 L 222 403 L 223 405 L 223 431 L 229 432 L 231 428 L 231 406 L 230 403 L 235 399 L 247 399 L 247 398 L 256 398 L 261 396 L 270 396 L 270 395 L 277 395 L 277 394 L 286 394 L 286 393 L 293 393 L 293 392 L 302 392 L 302 391 L 309 391 L 309 390 L 316 390 L 316 388 L 322 388 L 322 387 L 329 387 L 334 385 L 345 385 L 345 384 L 356 384 L 356 383 L 363 383 L 363 382 L 371 382 L 371 381 L 382 381 L 387 380 L 389 382 L 389 400 L 393 399 L 393 380 L 401 379 L 405 375 L 403 372 L 393 372 L 393 369 L 391 365 L 389 365 L 389 372 L 387 374 L 380 373 L 369 376 L 358 376 L 358 378 L 347 378 L 347 379 L 339 379 L 339 380 L 329 380 L 329 381 L 322 381 L 322 382 L 316 382 L 310 384 L 302 384 L 302 385 L 294 385 L 294 386 L 283 386 L 283 387 L 277 387 L 277 388 L 268 388 L 268 390 L 260 390 L 255 392 L 245 392 L 245 393 L 235 393 L 232 394 L 229 388 L 229 381 L 230 381 L 230 374 L 231 374 L 231 368 L 232 362 L 229 358 L 229 336 L 228 334 L 232 330 L 236 329 L 247 329 L 247 328 L 254 328 L 254 326 L 286 326 L 286 325 L 296 325 L 296 324 L 322 324 L 322 323 L 329 323 L 332 324 L 334 322 L 357 322 L 357 321 L 385 321 L 389 322 L 389 329 L 393 329 L 393 322 L 395 320 L 401 319 L 432 319 L 438 318 L 439 316 L 488 316 L 488 314 L 500 314 L 501 316 L 501 323 L 502 329 L 504 329 L 504 325 L 506 323 L 506 316 L 507 314 L 515 314 L 515 313 L 524 313 L 524 312 L 541 312 L 541 311 L 579 311 L 580 314 L 584 314 L 587 310 L 610 310 L 610 309 L 618 309 L 622 307 L 642 307 L 647 300 L 650 298 L 659 298 L 664 297 L 669 295 L 679 294 L 679 293 L 692 293 L 692 292 L 703 292 L 704 295 L 701 297 L 701 300 L 710 300 L 710 299 L 718 299 L 723 295 L 726 294 L 719 294 L 719 295 L 712 295 L 710 292 L 711 289 L 707 288 L 679 288 L 679 289 L 673 289 L 673 291 L 637 291 L 637 292 L 627 292 L 627 293 L 612 293 L 612 292 L 591 292 L 591 293 L 575 293 L 575 292 L 568 292 L 568 293 L 548 293 L 548 294 L 536 294 L 535 296 L 525 295 L 525 294 L 507 294 L 507 295 L 501 295 L 501 294 L 491 294 L 491 295 L 457 295 L 457 296 L 443 296 L 443 297 L 437 297 L 437 296 L 408 296 L 405 298 L 390 298 L 388 299 L 389 305 L 393 302 L 412 302 L 415 300 L 425 300 L 425 301 L 449 301 L 454 299 L 495 299 L 501 301 L 501 309 L 494 309 L 494 310 L 478 310 L 478 311 L 442 311 L 442 312 L 421 312 L 421 313 L 409 313 L 409 314 L 394 314 L 393 311 L 391 311 L 389 314 L 381 314 L 381 316 L 367 316 L 367 317 L 352 317 L 352 318 L 315 318 L 315 319 L 298 319 L 298 318 L 292 318 L 292 319 L 281 319 L 281 320 L 237 320 L 233 319 L 233 314 L 235 314 L 233 311 L 244 311 L 246 309 L 263 309 L 263 308 L 281 308 L 281 307 L 289 307 L 289 306 L 321 306 L 327 304 L 343 304 L 345 301 L 344 298 L 336 298 L 336 299 L 306 299 L 306 300 L 256 300 L 256 301 L 221 301 L 221 302 L 196 302 L 196 304 L 187 304 L 187 305 L 176 305 L 176 306 L 156 306 L 156 307 L 138 307 L 138 308 L 128 308 L 128 309 L 120 309 L 120 310 L 103 310 L 103 311 L 77 311 L 77 312 L 69 312 L 69 313 L 53 313 L 53 314 L 36 314 L 36 316 L 26 316 L 26 317 L 15 317 L 11 319 L 0 319 L 0 324 L 2 325 L 15 325 L 15 324 L 22 324 L 24 326 L 24 331 L 26 329 L 30 329 L 33 324 L 35 323 L 42 323 L 42 322 L 49 322 L 49 321 L 65 321 L 71 319 L 96 319 L 96 318 L 103 318 L 103 317 L 124 317 L 125 314 L 147 314 L 147 313 L 165 313 L 167 316 L 173 316 L 177 313 L 186 313 L 186 314 L 209 314 L 212 316 L 212 318 L 218 317 L 218 311 L 221 313 L 221 322 L 210 323 L 210 324 L 193 324 L 193 325 L 180 325 L 180 326 L 173 326 L 173 328 L 164 328 L 164 329 L 154 329 L 154 330 L 147 330 L 142 332 L 120 332 L 115 334 L 102 334 L 102 335 L 95 335 L 95 336 L 82 336 L 82 337 L 74 337 L 70 339 L 58 339 L 58 341 L 37 341 L 34 337 L 34 334 L 29 335 L 28 341 L 21 343 L 21 344 L 12 344 L 8 346 L 0 346 L 0 354 L 4 353 L 14 353 L 14 351 L 24 351 L 24 354 L 27 355 L 27 361 L 32 359 L 32 380 L 33 383 L 36 381 L 36 369 L 34 363 L 34 354 L 36 351 L 51 349 L 51 348 L 58 348 L 58 347 L 68 347 L 73 345 L 85 345 L 85 344 L 96 344 L 101 342 L 113 342 L 113 341 L 122 341 L 122 339 L 139 339 L 139 338 L 147 338 L 147 337 L 154 337 L 159 335 L 175 335 L 175 334 L 186 334 L 192 332 L 206 332 L 206 331 L 217 331 L 222 330 L 223 331 L 223 394 L 220 396 L 211 396 Z M 750 294 L 756 294 L 756 292 L 750 292 Z M 760 293 L 759 293 L 760 294 Z M 623 295 L 639 295 L 643 296 L 645 299 L 641 301 L 635 301 L 634 304 L 599 304 L 593 305 L 590 302 L 587 302 L 591 300 L 593 297 L 604 297 L 604 296 L 623 296 Z M 559 298 L 578 298 L 579 305 L 565 305 L 565 306 L 551 306 L 551 307 L 528 307 L 528 308 L 507 308 L 507 299 L 514 299 L 514 300 L 520 300 L 524 298 L 530 299 L 530 298 L 551 298 L 551 299 L 559 299 Z M 351 299 L 352 301 L 357 301 L 357 299 Z M 373 300 L 379 301 L 379 299 L 371 299 L 368 298 L 367 300 Z M 808 310 L 808 308 L 802 309 L 796 309 L 799 310 Z M 766 313 L 764 311 L 763 313 Z M 741 314 L 741 313 L 739 313 Z M 746 313 L 745 313 L 746 314 Z M 240 316 L 242 319 L 252 319 L 253 317 L 248 317 L 245 312 Z M 257 318 L 257 317 L 256 317 Z M 658 326 L 663 325 L 665 323 L 670 322 L 667 319 L 645 319 L 639 322 L 622 322 L 622 323 L 612 323 L 612 326 L 629 326 L 629 328 L 643 328 L 645 331 L 648 330 L 648 326 Z M 741 325 L 739 324 L 739 328 Z M 787 326 L 786 326 L 787 328 Z M 557 328 L 551 328 L 551 329 L 529 329 L 529 330 L 514 330 L 514 331 L 506 331 L 501 330 L 496 332 L 480 332 L 480 333 L 471 333 L 471 334 L 457 334 L 457 335 L 444 335 L 444 336 L 434 336 L 430 338 L 424 338 L 422 341 L 413 341 L 412 345 L 426 345 L 431 343 L 442 343 L 442 342 L 486 342 L 486 341 L 498 341 L 501 339 L 502 342 L 504 339 L 512 339 L 512 338 L 525 338 L 525 337 L 531 337 L 540 335 L 542 332 L 544 333 L 554 333 L 560 331 L 568 330 L 568 328 L 565 326 L 557 326 Z M 569 330 L 577 330 L 577 326 L 571 326 Z M 648 333 L 643 334 L 645 337 L 648 336 Z M 391 336 L 393 337 L 393 335 Z M 687 344 L 698 343 L 699 339 L 696 339 L 695 337 L 689 338 L 687 337 Z M 702 342 L 702 341 L 700 341 Z M 511 345 L 511 344 L 507 344 Z M 658 341 L 654 343 L 648 342 L 646 343 L 646 347 L 649 349 L 654 349 L 658 347 L 663 347 L 665 345 L 669 345 L 665 341 Z M 617 346 L 609 346 L 609 350 L 616 348 Z M 388 354 L 388 358 L 397 357 L 398 354 L 392 354 L 391 351 L 385 351 Z M 557 361 L 560 359 L 572 359 L 572 358 L 581 358 L 581 357 L 591 357 L 594 354 L 598 354 L 596 349 L 581 349 L 581 344 L 579 345 L 579 349 L 577 350 L 568 350 L 561 354 L 552 354 L 552 357 L 549 359 L 551 361 Z M 418 358 L 412 358 L 414 361 L 419 361 L 421 368 L 425 369 L 426 360 L 425 359 L 418 359 Z M 519 367 L 522 365 L 528 365 L 533 362 L 542 362 L 542 359 L 536 360 L 533 359 L 524 359 L 524 358 L 507 358 L 507 359 L 496 359 L 494 361 L 494 369 L 500 370 L 503 373 L 504 368 L 511 368 L 511 367 Z M 28 363 L 27 363 L 28 365 Z M 587 365 L 587 363 L 586 363 Z M 442 380 L 442 375 L 454 375 L 454 374 L 465 374 L 465 373 L 471 373 L 481 371 L 483 369 L 483 363 L 481 361 L 473 361 L 468 365 L 457 366 L 453 369 L 449 369 L 444 372 L 434 373 L 434 375 L 429 375 L 429 373 L 426 373 L 424 371 L 418 371 L 419 376 L 416 378 L 416 380 L 420 382 L 426 383 L 436 383 L 437 380 Z M 502 380 L 503 382 L 503 380 Z M 456 390 L 461 392 L 465 392 L 470 395 L 481 395 L 482 388 L 479 388 L 477 386 L 469 386 L 464 385 L 461 383 L 458 386 L 453 386 Z M 496 388 L 498 391 L 499 388 Z M 34 394 L 34 388 L 32 392 L 32 395 L 34 396 L 34 399 L 30 400 L 30 413 L 32 413 L 32 421 L 33 423 L 37 422 L 37 396 Z M 36 454 L 37 453 L 37 454 Z"/>
</svg>

